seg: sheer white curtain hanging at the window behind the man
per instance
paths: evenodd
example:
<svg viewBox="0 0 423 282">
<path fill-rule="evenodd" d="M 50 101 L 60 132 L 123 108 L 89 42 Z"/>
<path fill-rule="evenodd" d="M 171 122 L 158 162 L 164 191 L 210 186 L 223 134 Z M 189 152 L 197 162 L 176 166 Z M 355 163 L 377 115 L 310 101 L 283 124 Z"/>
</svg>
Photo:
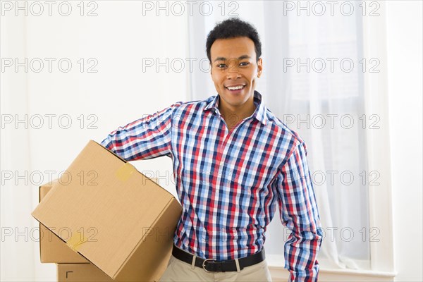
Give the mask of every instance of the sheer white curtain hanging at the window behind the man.
<svg viewBox="0 0 423 282">
<path fill-rule="evenodd" d="M 238 15 L 223 16 L 216 3 L 216 13 L 211 16 L 190 17 L 190 57 L 199 61 L 207 57 L 207 32 L 218 21 L 238 16 L 257 27 L 264 66 L 257 90 L 266 106 L 297 131 L 308 147 L 307 159 L 326 234 L 319 264 L 324 268 L 368 269 L 369 235 L 377 231 L 369 230 L 367 185 L 369 180 L 377 183 L 377 175 L 366 168 L 364 128 L 369 128 L 369 123 L 377 126 L 377 116 L 363 116 L 360 3 L 354 4 L 356 13 L 352 16 L 330 16 L 328 11 L 325 16 L 307 16 L 305 11 L 300 16 L 286 11 L 283 16 L 283 2 L 237 1 L 238 6 L 232 8 Z M 298 63 L 307 63 L 307 58 L 309 71 L 304 65 L 298 70 Z M 322 62 L 326 64 L 324 71 Z M 288 63 L 295 65 L 287 67 Z M 368 71 L 369 65 L 366 67 Z M 204 68 L 190 73 L 192 99 L 216 94 Z M 276 214 L 269 225 L 265 247 L 267 254 L 283 259 L 288 231 L 278 218 Z"/>
</svg>

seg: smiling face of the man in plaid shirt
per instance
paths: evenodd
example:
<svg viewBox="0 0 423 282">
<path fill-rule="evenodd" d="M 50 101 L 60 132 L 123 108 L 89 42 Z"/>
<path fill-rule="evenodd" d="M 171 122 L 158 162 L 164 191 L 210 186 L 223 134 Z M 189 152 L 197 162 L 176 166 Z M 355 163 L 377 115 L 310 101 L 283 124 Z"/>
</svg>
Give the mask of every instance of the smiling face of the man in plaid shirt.
<svg viewBox="0 0 423 282">
<path fill-rule="evenodd" d="M 255 79 L 262 73 L 262 59 L 256 61 L 254 42 L 248 37 L 217 39 L 210 57 L 212 80 L 223 104 L 235 111 L 252 101 Z"/>
</svg>

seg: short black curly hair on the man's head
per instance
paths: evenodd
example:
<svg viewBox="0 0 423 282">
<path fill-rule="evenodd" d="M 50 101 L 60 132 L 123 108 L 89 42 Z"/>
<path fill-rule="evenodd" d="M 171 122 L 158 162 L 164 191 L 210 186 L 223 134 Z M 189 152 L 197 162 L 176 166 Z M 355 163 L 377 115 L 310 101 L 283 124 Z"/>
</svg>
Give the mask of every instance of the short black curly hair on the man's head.
<svg viewBox="0 0 423 282">
<path fill-rule="evenodd" d="M 259 61 L 260 56 L 262 56 L 262 42 L 260 42 L 259 33 L 255 27 L 239 18 L 228 18 L 216 24 L 214 29 L 207 35 L 206 51 L 210 63 L 212 63 L 210 49 L 212 49 L 213 42 L 215 42 L 216 39 L 229 39 L 235 37 L 250 38 L 252 42 L 254 42 L 256 60 Z"/>
</svg>

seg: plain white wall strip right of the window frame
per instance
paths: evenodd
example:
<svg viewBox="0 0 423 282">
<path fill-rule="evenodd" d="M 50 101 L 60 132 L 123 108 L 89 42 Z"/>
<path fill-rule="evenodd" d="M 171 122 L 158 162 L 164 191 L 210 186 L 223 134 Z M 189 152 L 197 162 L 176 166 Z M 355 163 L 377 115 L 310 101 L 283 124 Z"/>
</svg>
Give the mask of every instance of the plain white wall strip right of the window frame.
<svg viewBox="0 0 423 282">
<path fill-rule="evenodd" d="M 422 2 L 386 8 L 396 281 L 422 281 Z"/>
</svg>

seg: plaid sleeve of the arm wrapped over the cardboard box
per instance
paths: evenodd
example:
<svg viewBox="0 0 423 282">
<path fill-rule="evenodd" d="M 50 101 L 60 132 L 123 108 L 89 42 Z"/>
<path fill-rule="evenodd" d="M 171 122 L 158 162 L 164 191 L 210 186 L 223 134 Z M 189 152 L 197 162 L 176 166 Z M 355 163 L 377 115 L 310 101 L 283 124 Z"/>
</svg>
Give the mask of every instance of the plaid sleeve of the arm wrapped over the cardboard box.
<svg viewBox="0 0 423 282">
<path fill-rule="evenodd" d="M 172 117 L 182 102 L 139 118 L 112 131 L 101 142 L 126 161 L 171 156 Z"/>
</svg>

